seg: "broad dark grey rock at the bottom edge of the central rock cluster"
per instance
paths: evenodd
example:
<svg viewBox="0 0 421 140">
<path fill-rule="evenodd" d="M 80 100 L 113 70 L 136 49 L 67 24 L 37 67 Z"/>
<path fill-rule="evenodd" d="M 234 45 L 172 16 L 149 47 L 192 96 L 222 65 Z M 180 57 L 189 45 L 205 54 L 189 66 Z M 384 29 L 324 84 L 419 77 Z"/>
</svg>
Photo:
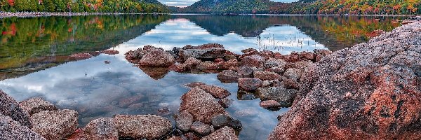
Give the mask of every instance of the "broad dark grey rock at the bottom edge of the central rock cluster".
<svg viewBox="0 0 421 140">
<path fill-rule="evenodd" d="M 260 87 L 257 92 L 260 94 L 260 99 L 262 99 L 262 101 L 276 100 L 282 107 L 291 106 L 297 95 L 297 90 L 283 87 Z"/>
</svg>

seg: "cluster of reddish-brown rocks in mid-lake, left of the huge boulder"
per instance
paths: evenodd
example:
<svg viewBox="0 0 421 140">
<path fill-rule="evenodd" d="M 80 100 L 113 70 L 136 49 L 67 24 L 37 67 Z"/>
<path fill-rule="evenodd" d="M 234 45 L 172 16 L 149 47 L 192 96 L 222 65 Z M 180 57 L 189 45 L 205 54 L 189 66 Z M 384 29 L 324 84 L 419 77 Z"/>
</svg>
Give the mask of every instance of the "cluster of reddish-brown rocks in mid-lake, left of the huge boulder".
<svg viewBox="0 0 421 140">
<path fill-rule="evenodd" d="M 262 107 L 278 110 L 293 103 L 305 69 L 331 53 L 329 50 L 314 50 L 281 55 L 253 48 L 242 52 L 242 55 L 235 54 L 216 43 L 186 45 L 171 51 L 145 45 L 126 52 L 126 59 L 138 64 L 152 78 L 162 78 L 168 71 L 218 73 L 217 78 L 222 83 L 238 83 L 241 99 L 260 97 Z M 208 92 L 206 88 L 201 89 Z"/>
</svg>

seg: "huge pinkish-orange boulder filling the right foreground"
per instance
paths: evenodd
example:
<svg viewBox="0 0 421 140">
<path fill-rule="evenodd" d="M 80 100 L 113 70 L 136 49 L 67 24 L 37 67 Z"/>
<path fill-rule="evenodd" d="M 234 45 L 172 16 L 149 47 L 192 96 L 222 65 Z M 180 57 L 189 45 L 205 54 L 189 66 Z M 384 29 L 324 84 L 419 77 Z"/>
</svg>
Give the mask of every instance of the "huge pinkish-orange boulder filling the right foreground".
<svg viewBox="0 0 421 140">
<path fill-rule="evenodd" d="M 309 67 L 269 139 L 421 139 L 421 23 Z"/>
</svg>

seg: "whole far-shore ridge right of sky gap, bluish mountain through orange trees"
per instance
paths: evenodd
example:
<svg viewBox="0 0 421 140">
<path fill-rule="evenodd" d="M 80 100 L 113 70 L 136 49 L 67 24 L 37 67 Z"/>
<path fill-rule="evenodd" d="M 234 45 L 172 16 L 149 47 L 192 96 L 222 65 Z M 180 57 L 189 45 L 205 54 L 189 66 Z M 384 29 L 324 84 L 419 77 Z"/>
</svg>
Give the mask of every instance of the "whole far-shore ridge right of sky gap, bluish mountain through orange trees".
<svg viewBox="0 0 421 140">
<path fill-rule="evenodd" d="M 176 13 L 421 14 L 421 0 L 201 0 Z"/>
</svg>

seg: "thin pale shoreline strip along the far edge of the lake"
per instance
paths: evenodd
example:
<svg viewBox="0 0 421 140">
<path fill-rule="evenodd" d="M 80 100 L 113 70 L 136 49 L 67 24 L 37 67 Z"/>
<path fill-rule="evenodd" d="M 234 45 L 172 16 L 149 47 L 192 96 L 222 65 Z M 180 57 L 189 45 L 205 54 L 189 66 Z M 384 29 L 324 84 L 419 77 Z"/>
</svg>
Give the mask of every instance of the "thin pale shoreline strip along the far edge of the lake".
<svg viewBox="0 0 421 140">
<path fill-rule="evenodd" d="M 81 16 L 81 15 L 221 15 L 213 13 L 50 13 L 50 12 L 0 12 L 1 18 L 34 18 L 49 16 Z M 418 15 L 335 15 L 335 14 L 238 14 L 238 15 L 267 15 L 267 16 L 366 16 L 366 17 L 416 17 Z M 235 15 L 223 15 L 235 16 Z"/>
</svg>

